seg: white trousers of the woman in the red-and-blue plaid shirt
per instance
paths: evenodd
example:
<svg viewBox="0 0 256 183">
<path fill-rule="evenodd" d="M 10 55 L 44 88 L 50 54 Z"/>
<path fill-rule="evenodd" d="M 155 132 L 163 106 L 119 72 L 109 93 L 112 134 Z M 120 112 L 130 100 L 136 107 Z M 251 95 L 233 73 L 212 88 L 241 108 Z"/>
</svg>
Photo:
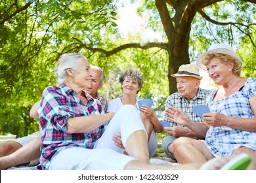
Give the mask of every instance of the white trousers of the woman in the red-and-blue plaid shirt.
<svg viewBox="0 0 256 183">
<path fill-rule="evenodd" d="M 129 136 L 138 130 L 145 131 L 145 128 L 137 109 L 133 105 L 124 105 L 110 120 L 93 150 L 81 147 L 61 150 L 53 157 L 49 169 L 124 169 L 125 165 L 135 158 L 124 155 L 123 149 L 114 144 L 112 137 L 121 133 L 125 146 Z"/>
</svg>

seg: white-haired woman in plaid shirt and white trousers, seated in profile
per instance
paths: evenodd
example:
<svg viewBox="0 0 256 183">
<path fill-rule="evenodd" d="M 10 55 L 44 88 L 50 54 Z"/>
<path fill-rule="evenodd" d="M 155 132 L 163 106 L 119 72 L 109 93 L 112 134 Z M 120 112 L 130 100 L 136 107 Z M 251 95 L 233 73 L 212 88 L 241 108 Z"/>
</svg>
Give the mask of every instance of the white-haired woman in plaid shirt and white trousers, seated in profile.
<svg viewBox="0 0 256 183">
<path fill-rule="evenodd" d="M 91 84 L 87 58 L 65 54 L 55 75 L 60 86 L 45 88 L 38 110 L 41 169 L 131 169 L 134 163 L 149 163 L 146 132 L 136 108 L 127 105 L 116 114 L 104 114 L 99 101 L 85 93 Z M 129 156 L 120 154 L 112 141 L 120 132 Z"/>
</svg>

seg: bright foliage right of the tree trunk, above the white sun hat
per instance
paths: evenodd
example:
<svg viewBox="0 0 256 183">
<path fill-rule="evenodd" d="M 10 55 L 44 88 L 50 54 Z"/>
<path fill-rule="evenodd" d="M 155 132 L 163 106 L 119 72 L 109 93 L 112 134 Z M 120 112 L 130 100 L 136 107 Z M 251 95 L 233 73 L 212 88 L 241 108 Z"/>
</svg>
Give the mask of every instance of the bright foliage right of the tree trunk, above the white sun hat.
<svg viewBox="0 0 256 183">
<path fill-rule="evenodd" d="M 253 17 L 255 14 L 244 16 L 245 12 L 256 12 L 256 6 L 245 1 L 220 1 L 203 8 L 203 11 L 207 12 L 207 16 L 215 22 L 206 21 L 200 14 L 194 17 L 190 45 L 194 47 L 192 50 L 197 51 L 190 52 L 192 61 L 200 54 L 198 50 L 207 50 L 212 43 L 224 42 L 239 45 L 241 37 L 250 33 L 252 27 L 249 24 L 255 19 Z"/>
</svg>

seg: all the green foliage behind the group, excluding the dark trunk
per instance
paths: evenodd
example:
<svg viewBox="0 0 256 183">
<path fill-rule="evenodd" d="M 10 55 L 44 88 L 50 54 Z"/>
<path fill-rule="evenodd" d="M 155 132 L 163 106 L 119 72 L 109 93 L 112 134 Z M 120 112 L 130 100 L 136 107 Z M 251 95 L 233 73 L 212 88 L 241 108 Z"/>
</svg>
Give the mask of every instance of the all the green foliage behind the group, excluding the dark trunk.
<svg viewBox="0 0 256 183">
<path fill-rule="evenodd" d="M 116 25 L 116 3 L 108 0 L 1 1 L 1 134 L 23 136 L 38 130 L 37 120 L 29 117 L 30 108 L 41 99 L 45 87 L 55 84 L 53 73 L 56 60 L 68 52 L 81 52 L 92 65 L 104 69 L 107 79 L 100 93 L 106 95 L 108 100 L 121 94 L 117 80 L 119 73 L 128 67 L 138 67 L 144 76 L 139 97 L 153 99 L 154 108 L 164 110 L 169 95 L 169 53 L 166 50 L 127 48 L 115 54 L 106 54 L 125 43 L 148 42 L 142 40 L 142 33 L 125 38 L 120 35 Z M 227 10 L 226 6 L 231 10 Z M 173 18 L 175 9 L 169 6 L 168 10 Z M 213 20 L 238 21 L 240 24 L 255 20 L 255 14 L 244 16 L 244 12 L 256 12 L 255 6 L 244 1 L 221 1 L 203 11 Z M 142 1 L 138 12 L 145 20 L 143 27 L 151 27 L 161 33 L 161 41 L 167 42 L 155 2 Z M 212 42 L 236 42 L 238 54 L 244 60 L 242 75 L 255 76 L 255 47 L 248 37 L 241 39 L 242 33 L 246 33 L 256 40 L 255 27 L 240 24 L 215 25 L 196 14 L 190 32 L 190 60 L 195 61 Z M 99 48 L 103 51 L 95 50 Z"/>
</svg>

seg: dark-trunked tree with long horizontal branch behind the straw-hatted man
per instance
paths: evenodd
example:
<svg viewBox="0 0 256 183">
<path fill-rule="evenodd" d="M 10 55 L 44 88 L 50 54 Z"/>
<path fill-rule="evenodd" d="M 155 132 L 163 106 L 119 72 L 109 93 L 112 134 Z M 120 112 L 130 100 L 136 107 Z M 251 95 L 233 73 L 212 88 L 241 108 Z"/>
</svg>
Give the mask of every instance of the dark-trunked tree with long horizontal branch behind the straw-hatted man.
<svg viewBox="0 0 256 183">
<path fill-rule="evenodd" d="M 152 3 L 155 3 L 155 7 Z M 248 3 L 249 2 L 249 3 Z M 253 3 L 253 4 L 252 4 Z M 251 39 L 250 32 L 253 30 L 253 15 L 246 12 L 255 12 L 256 1 L 221 1 L 221 0 L 156 0 L 146 1 L 144 6 L 152 8 L 152 12 L 158 10 L 161 19 L 163 31 L 165 33 L 166 42 L 146 42 L 127 43 L 116 46 L 112 50 L 107 50 L 93 44 L 87 44 L 86 41 L 78 41 L 76 48 L 85 48 L 91 52 L 100 52 L 107 58 L 125 50 L 127 48 L 160 48 L 168 54 L 168 79 L 169 93 L 177 91 L 175 78 L 171 77 L 172 73 L 176 73 L 179 66 L 190 63 L 189 48 L 190 44 L 196 44 L 194 48 L 197 52 L 206 50 L 211 42 L 228 42 L 229 44 L 239 45 L 239 39 L 236 36 L 246 35 L 249 37 L 251 44 L 255 46 L 255 42 Z M 227 12 L 227 7 L 233 7 L 234 14 Z M 241 13 L 243 14 L 241 16 Z M 246 14 L 246 15 L 244 15 Z M 200 21 L 200 24 L 198 24 Z M 150 23 L 150 22 L 149 22 Z M 152 26 L 152 25 L 151 25 Z M 198 39 L 192 41 L 190 31 L 193 28 L 199 27 L 199 30 L 205 29 L 211 37 L 206 38 L 205 32 L 203 35 L 198 34 Z M 215 30 L 212 29 L 215 28 Z M 200 33 L 194 30 L 194 33 Z M 203 32 L 203 31 L 202 31 Z M 74 38 L 75 39 L 75 38 Z"/>
</svg>

